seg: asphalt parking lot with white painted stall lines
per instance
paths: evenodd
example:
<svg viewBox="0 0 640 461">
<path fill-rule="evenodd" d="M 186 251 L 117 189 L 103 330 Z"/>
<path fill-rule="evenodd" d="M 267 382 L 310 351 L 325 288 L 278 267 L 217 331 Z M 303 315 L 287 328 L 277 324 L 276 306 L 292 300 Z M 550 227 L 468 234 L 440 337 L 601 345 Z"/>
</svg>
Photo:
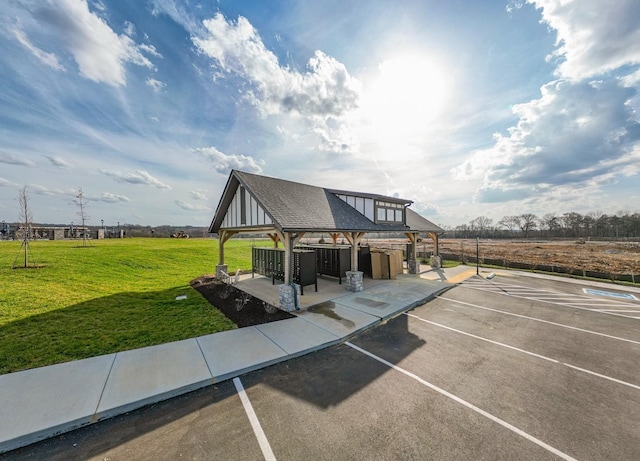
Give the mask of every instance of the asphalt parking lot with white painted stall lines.
<svg viewBox="0 0 640 461">
<path fill-rule="evenodd" d="M 345 344 L 7 459 L 640 459 L 640 297 L 473 277 Z"/>
</svg>

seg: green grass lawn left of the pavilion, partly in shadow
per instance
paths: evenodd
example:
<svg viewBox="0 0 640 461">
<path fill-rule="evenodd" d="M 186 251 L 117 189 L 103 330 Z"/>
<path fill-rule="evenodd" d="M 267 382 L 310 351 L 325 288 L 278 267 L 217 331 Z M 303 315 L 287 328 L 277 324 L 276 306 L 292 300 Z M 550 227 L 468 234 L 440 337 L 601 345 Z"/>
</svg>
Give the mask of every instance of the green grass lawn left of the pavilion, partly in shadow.
<svg viewBox="0 0 640 461">
<path fill-rule="evenodd" d="M 225 244 L 231 271 L 252 243 Z M 217 240 L 32 241 L 42 267 L 12 269 L 20 244 L 0 241 L 0 374 L 235 328 L 189 286 L 215 272 Z"/>
</svg>

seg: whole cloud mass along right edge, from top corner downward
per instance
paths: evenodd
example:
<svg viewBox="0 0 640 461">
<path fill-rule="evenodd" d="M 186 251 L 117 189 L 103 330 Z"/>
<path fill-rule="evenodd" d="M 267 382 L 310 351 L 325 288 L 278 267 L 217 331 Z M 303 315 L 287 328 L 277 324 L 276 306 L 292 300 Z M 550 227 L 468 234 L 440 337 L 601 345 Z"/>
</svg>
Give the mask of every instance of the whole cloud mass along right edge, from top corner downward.
<svg viewBox="0 0 640 461">
<path fill-rule="evenodd" d="M 640 173 L 640 9 L 622 0 L 529 0 L 557 31 L 556 74 L 513 107 L 518 123 L 451 170 L 478 184 L 474 201 L 575 203 Z M 512 2 L 513 12 L 520 4 Z"/>
</svg>

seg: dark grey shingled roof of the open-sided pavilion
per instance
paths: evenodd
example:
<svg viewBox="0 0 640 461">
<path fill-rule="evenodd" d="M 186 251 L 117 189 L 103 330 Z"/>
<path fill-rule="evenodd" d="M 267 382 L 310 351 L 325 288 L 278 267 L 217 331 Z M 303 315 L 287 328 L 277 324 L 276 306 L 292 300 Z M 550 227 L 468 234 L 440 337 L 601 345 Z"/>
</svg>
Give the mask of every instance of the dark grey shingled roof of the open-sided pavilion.
<svg viewBox="0 0 640 461">
<path fill-rule="evenodd" d="M 209 232 L 218 232 L 220 230 L 238 185 L 244 186 L 251 193 L 258 204 L 271 217 L 274 226 L 283 232 L 443 231 L 435 224 L 408 209 L 408 226 L 403 224 L 376 224 L 338 198 L 336 194 L 353 194 L 405 205 L 410 205 L 412 203 L 410 200 L 377 194 L 325 189 L 232 170 L 209 227 Z"/>
</svg>

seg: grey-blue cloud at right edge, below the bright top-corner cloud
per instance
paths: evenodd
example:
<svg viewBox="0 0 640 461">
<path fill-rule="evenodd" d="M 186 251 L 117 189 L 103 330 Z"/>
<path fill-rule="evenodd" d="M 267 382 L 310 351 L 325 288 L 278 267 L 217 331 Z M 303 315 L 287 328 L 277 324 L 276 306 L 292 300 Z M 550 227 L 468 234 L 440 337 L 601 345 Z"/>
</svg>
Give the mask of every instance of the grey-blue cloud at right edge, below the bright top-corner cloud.
<svg viewBox="0 0 640 461">
<path fill-rule="evenodd" d="M 483 178 L 477 199 L 524 199 L 559 186 L 598 187 L 638 172 L 640 124 L 627 104 L 635 91 L 616 80 L 559 80 L 542 97 L 514 107 L 520 121 L 493 148 L 454 169 L 456 179 Z"/>
</svg>

